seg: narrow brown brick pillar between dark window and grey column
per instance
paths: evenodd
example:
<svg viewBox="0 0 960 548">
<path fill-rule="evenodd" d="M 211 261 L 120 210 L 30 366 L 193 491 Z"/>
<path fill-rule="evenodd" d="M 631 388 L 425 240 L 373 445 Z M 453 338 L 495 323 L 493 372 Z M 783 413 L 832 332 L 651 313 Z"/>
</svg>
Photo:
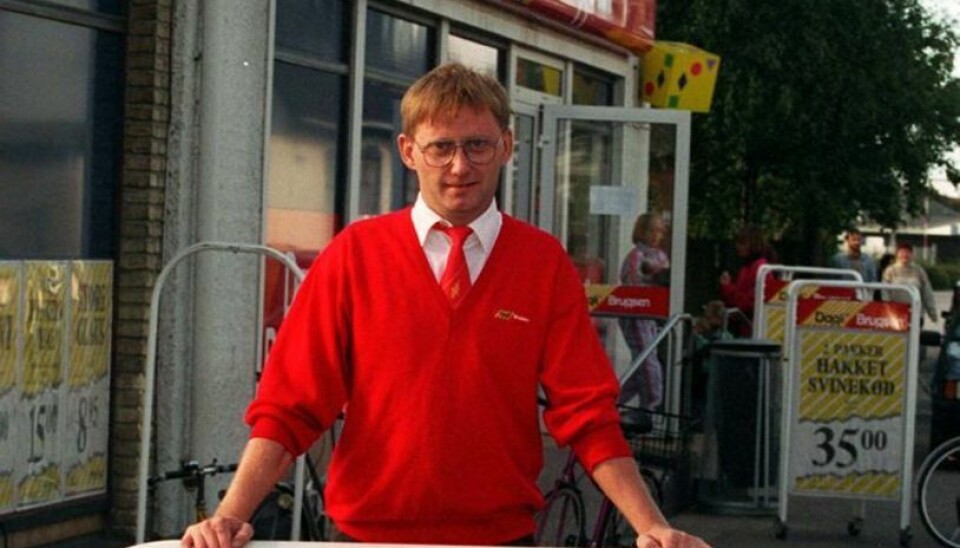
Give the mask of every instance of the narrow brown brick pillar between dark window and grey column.
<svg viewBox="0 0 960 548">
<path fill-rule="evenodd" d="M 136 528 L 150 295 L 162 267 L 173 0 L 131 0 L 111 394 L 111 528 Z"/>
</svg>

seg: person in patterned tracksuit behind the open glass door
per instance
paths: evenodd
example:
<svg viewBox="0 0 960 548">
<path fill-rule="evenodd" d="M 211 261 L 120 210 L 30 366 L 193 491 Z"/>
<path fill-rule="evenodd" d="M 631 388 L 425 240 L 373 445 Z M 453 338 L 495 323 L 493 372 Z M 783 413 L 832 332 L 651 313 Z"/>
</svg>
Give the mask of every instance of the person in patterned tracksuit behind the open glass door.
<svg viewBox="0 0 960 548">
<path fill-rule="evenodd" d="M 620 283 L 624 285 L 663 285 L 662 280 L 670 268 L 670 259 L 660 248 L 667 234 L 663 217 L 656 213 L 643 213 L 633 225 L 633 248 L 620 266 Z M 652 319 L 619 318 L 618 324 L 627 346 L 631 361 L 636 359 L 657 337 L 657 322 Z M 651 352 L 636 372 L 623 383 L 620 404 L 634 397 L 640 407 L 654 410 L 663 403 L 663 365 L 656 350 Z"/>
</svg>

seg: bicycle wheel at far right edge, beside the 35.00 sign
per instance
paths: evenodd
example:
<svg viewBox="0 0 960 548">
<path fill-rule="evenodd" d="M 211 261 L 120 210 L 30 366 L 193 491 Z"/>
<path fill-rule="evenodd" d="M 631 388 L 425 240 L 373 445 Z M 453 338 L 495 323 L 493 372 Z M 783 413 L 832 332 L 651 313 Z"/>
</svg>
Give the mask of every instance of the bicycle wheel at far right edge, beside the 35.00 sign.
<svg viewBox="0 0 960 548">
<path fill-rule="evenodd" d="M 944 546 L 960 548 L 960 438 L 944 442 L 924 460 L 917 504 L 930 536 Z"/>
</svg>

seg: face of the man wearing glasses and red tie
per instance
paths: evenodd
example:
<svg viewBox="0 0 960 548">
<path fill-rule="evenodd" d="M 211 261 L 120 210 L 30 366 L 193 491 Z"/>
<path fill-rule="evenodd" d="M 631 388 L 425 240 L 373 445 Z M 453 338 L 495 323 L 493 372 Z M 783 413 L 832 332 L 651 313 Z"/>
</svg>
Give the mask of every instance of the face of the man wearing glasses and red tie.
<svg viewBox="0 0 960 548">
<path fill-rule="evenodd" d="M 489 161 L 472 162 L 463 146 L 457 146 L 450 163 L 435 167 L 425 150 L 449 148 L 464 143 L 492 143 Z M 413 135 L 397 138 L 403 163 L 417 172 L 420 194 L 430 209 L 455 225 L 465 225 L 490 206 L 497 191 L 500 168 L 510 160 L 513 134 L 503 131 L 488 109 L 462 108 L 455 116 L 439 116 L 422 122 Z M 428 152 L 429 153 L 429 152 Z M 475 154 L 476 157 L 482 156 Z M 436 164 L 436 161 L 432 161 Z"/>
</svg>

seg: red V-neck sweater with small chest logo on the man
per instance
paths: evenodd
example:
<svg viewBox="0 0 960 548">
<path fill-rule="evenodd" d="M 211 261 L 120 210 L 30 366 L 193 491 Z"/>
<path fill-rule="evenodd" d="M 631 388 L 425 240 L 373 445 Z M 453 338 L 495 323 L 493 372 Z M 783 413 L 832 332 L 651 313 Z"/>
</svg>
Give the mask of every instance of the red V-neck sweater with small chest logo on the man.
<svg viewBox="0 0 960 548">
<path fill-rule="evenodd" d="M 349 403 L 326 490 L 344 533 L 498 544 L 532 533 L 543 503 L 540 385 L 548 430 L 588 470 L 630 455 L 613 369 L 559 243 L 504 215 L 454 310 L 405 209 L 353 223 L 320 255 L 247 422 L 298 455 Z"/>
</svg>

